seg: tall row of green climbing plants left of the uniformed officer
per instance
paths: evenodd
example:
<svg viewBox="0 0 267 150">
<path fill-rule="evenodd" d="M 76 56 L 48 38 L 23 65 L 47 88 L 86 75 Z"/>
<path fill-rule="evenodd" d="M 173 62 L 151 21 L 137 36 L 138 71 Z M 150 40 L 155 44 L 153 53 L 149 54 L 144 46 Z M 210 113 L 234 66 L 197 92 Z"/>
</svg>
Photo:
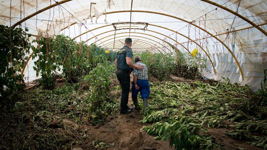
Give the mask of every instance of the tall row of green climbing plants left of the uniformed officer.
<svg viewBox="0 0 267 150">
<path fill-rule="evenodd" d="M 38 58 L 34 62 L 34 70 L 36 75 L 42 75 L 40 82 L 46 89 L 54 87 L 57 71 L 62 71 L 68 82 L 76 83 L 80 76 L 88 74 L 98 63 L 111 60 L 111 54 L 106 54 L 103 48 L 87 45 L 83 41 L 77 43 L 64 35 L 56 35 L 55 39 L 40 38 L 39 41 L 32 42 L 40 45 L 38 49 L 33 48 L 32 58 Z"/>
</svg>

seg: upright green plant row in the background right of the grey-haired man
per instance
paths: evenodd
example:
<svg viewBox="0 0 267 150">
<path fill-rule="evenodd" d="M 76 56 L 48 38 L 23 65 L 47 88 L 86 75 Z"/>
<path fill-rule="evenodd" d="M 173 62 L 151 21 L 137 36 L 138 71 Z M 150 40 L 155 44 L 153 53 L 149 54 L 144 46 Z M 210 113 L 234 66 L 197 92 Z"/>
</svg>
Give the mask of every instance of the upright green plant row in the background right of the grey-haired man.
<svg viewBox="0 0 267 150">
<path fill-rule="evenodd" d="M 203 70 L 208 71 L 207 59 L 200 58 L 200 54 L 192 57 L 188 53 L 178 53 L 177 61 L 173 53 L 152 54 L 142 52 L 140 55 L 142 62 L 147 65 L 148 72 L 160 81 L 170 78 L 170 74 L 194 80 L 201 79 Z M 200 64 L 200 65 L 199 65 Z"/>
</svg>

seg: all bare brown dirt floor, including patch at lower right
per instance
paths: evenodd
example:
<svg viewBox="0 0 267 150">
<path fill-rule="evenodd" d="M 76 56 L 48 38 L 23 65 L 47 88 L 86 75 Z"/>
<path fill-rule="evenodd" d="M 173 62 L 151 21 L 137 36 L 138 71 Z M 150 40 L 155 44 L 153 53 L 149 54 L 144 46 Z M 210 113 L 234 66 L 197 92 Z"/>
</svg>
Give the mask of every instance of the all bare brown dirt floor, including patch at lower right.
<svg viewBox="0 0 267 150">
<path fill-rule="evenodd" d="M 183 78 L 172 76 L 172 80 L 179 82 L 191 82 L 184 80 Z M 133 81 L 131 76 L 131 81 Z M 157 81 L 156 78 L 151 77 L 151 81 Z M 129 93 L 128 106 L 132 105 L 131 92 Z M 150 124 L 140 124 L 139 121 L 142 119 L 139 111 L 134 110 L 130 114 L 120 115 L 119 110 L 113 116 L 110 116 L 109 121 L 103 126 L 90 126 L 84 123 L 81 128 L 87 128 L 86 135 L 90 135 L 92 139 L 86 139 L 85 143 L 80 143 L 73 147 L 75 150 L 93 149 L 92 141 L 99 139 L 106 144 L 114 143 L 113 146 L 107 148 L 109 150 L 169 150 L 174 147 L 169 147 L 169 140 L 162 142 L 161 140 L 154 140 L 154 136 L 148 135 L 142 128 Z M 63 124 L 76 123 L 64 119 Z M 231 125 L 232 122 L 229 122 Z M 226 131 L 230 131 L 225 128 L 212 128 L 207 129 L 208 132 L 214 139 L 225 147 L 225 150 L 235 149 L 255 149 L 262 150 L 262 148 L 252 146 L 246 141 L 234 140 L 231 137 L 225 135 Z M 77 149 L 78 148 L 78 149 Z"/>
</svg>

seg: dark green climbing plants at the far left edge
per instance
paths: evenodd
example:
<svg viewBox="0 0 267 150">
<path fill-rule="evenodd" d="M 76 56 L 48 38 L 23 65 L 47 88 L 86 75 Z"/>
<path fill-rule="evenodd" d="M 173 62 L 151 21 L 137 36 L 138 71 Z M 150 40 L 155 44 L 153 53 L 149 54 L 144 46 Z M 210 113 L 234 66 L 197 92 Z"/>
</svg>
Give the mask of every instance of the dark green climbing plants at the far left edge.
<svg viewBox="0 0 267 150">
<path fill-rule="evenodd" d="M 25 31 L 28 31 L 25 28 Z M 22 68 L 26 65 L 31 47 L 30 34 L 22 28 L 0 25 L 0 98 L 23 88 Z"/>
</svg>

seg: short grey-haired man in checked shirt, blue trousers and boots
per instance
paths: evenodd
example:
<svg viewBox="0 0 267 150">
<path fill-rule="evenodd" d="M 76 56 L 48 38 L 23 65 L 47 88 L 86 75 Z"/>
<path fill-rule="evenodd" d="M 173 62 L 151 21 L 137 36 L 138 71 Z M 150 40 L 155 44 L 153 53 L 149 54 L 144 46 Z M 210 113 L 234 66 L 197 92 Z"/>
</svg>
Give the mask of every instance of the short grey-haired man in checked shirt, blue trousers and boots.
<svg viewBox="0 0 267 150">
<path fill-rule="evenodd" d="M 134 81 L 132 82 L 132 100 L 134 102 L 134 108 L 139 109 L 137 94 L 140 92 L 141 98 L 143 99 L 144 110 L 147 108 L 148 96 L 150 93 L 147 66 L 141 62 L 140 56 L 134 57 L 135 65 L 143 66 L 143 70 L 134 69 Z"/>
</svg>

